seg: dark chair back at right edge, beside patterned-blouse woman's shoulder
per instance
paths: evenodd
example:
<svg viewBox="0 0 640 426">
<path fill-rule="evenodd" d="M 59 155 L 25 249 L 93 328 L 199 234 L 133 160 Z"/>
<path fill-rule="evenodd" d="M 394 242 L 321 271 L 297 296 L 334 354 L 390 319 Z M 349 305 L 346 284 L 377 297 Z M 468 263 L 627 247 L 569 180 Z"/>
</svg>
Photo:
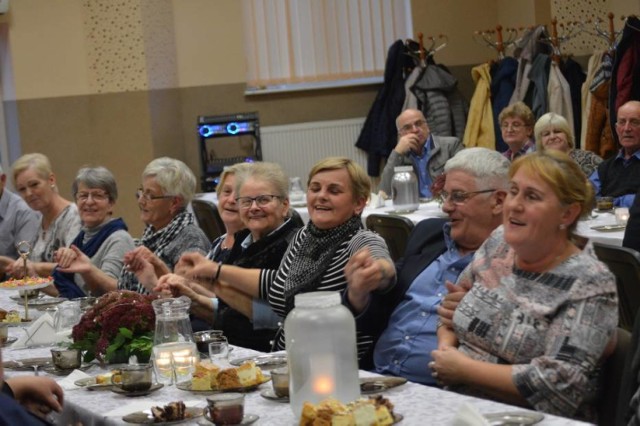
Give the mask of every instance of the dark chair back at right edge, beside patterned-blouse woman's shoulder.
<svg viewBox="0 0 640 426">
<path fill-rule="evenodd" d="M 640 254 L 630 248 L 593 243 L 593 249 L 616 277 L 618 288 L 618 325 L 632 330 L 640 307 Z"/>
</svg>

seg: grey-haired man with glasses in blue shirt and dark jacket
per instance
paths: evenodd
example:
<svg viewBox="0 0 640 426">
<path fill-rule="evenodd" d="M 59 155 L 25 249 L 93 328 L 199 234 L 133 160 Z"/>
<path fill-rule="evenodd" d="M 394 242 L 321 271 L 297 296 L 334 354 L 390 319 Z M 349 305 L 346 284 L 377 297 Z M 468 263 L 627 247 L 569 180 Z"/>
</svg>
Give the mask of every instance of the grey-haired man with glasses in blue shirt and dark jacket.
<svg viewBox="0 0 640 426">
<path fill-rule="evenodd" d="M 418 223 L 404 257 L 396 262 L 396 286 L 387 294 L 371 295 L 369 309 L 388 318 L 373 353 L 376 372 L 435 385 L 427 365 L 438 345 L 438 306 L 447 287 L 455 289 L 451 283 L 502 223 L 508 172 L 509 161 L 486 148 L 468 148 L 447 161 L 441 198 L 449 220 Z"/>
</svg>

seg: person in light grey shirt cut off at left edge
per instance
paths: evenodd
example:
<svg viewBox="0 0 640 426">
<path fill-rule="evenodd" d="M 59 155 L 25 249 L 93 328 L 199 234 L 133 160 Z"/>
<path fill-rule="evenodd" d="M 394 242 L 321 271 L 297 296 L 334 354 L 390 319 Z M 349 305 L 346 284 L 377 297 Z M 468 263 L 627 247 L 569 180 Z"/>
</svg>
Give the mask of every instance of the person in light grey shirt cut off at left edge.
<svg viewBox="0 0 640 426">
<path fill-rule="evenodd" d="M 0 278 L 7 265 L 18 258 L 16 244 L 32 243 L 40 228 L 40 213 L 6 188 L 7 175 L 0 166 Z"/>
</svg>

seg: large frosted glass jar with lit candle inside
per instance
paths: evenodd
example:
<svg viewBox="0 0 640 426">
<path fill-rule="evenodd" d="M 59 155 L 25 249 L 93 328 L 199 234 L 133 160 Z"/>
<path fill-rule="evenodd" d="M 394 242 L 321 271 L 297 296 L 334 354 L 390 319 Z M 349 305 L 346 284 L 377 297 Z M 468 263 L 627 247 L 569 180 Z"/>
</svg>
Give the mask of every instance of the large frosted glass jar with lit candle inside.
<svg viewBox="0 0 640 426">
<path fill-rule="evenodd" d="M 333 397 L 347 403 L 360 397 L 356 325 L 339 292 L 297 294 L 284 333 L 296 419 L 305 401 Z"/>
</svg>

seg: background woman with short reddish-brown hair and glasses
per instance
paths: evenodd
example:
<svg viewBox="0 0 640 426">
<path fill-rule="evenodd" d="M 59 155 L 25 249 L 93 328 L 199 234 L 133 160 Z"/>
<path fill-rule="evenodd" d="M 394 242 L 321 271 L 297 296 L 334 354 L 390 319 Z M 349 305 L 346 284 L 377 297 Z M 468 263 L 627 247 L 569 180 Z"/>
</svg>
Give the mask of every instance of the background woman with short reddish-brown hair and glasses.
<svg viewBox="0 0 640 426">
<path fill-rule="evenodd" d="M 509 146 L 503 155 L 509 161 L 534 152 L 536 144 L 531 138 L 535 117 L 523 102 L 516 102 L 504 108 L 498 115 L 502 139 Z"/>
</svg>

